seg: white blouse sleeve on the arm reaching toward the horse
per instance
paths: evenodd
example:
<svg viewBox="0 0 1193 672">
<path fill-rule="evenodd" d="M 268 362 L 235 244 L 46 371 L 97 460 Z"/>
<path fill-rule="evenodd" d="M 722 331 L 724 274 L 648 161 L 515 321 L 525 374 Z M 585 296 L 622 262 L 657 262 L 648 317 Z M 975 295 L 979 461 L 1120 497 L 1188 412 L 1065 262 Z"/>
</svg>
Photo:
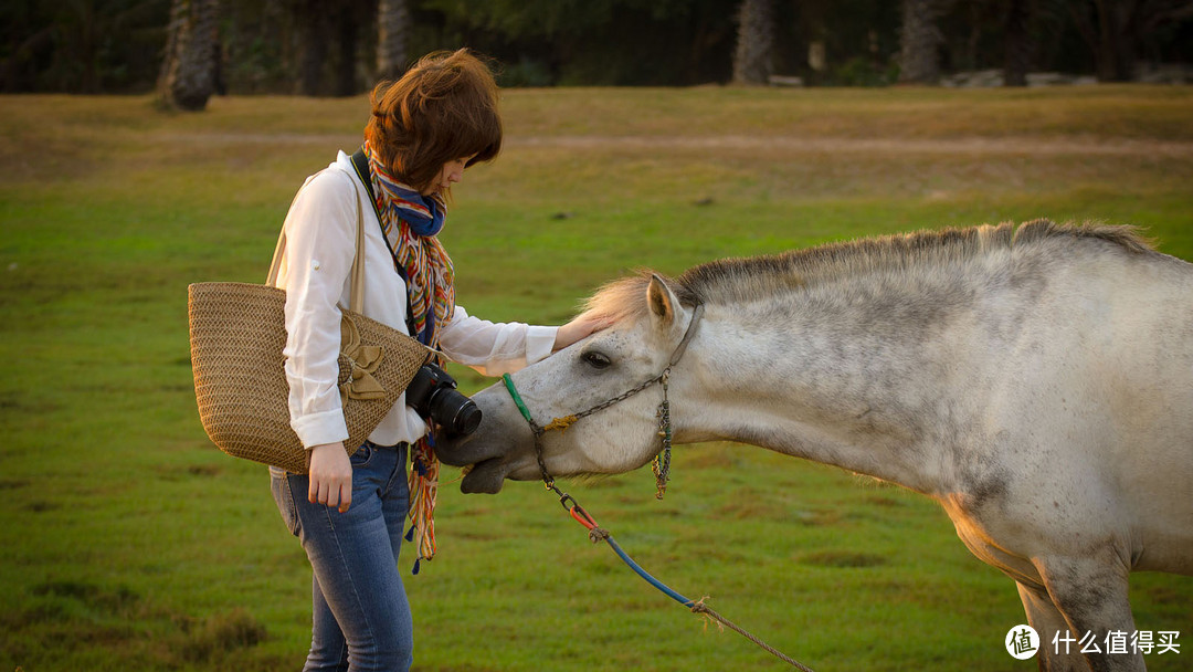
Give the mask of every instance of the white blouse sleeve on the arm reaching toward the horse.
<svg viewBox="0 0 1193 672">
<path fill-rule="evenodd" d="M 439 345 L 452 362 L 471 366 L 483 376 L 500 376 L 545 359 L 558 331 L 523 322 L 495 323 L 456 306 L 451 321 L 439 332 Z"/>
</svg>

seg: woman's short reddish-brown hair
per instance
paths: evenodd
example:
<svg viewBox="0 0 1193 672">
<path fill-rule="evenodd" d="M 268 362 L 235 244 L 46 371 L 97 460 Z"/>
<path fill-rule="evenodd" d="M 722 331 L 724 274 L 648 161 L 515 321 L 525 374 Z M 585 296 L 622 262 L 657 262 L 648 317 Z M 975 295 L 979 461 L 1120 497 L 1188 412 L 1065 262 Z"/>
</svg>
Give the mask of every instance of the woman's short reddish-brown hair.
<svg viewBox="0 0 1193 672">
<path fill-rule="evenodd" d="M 370 97 L 365 140 L 397 179 L 421 191 L 444 164 L 472 156 L 469 166 L 501 152 L 497 84 L 468 49 L 435 51 Z"/>
</svg>

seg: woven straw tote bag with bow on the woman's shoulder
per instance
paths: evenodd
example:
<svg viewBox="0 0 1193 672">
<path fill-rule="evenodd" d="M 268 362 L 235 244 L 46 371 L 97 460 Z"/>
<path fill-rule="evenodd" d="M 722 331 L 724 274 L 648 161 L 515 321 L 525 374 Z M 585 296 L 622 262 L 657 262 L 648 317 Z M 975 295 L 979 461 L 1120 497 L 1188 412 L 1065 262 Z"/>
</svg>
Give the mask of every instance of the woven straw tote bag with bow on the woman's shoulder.
<svg viewBox="0 0 1193 672">
<path fill-rule="evenodd" d="M 336 381 L 348 426 L 348 455 L 381 424 L 431 356 L 418 340 L 360 314 L 364 238 L 358 187 L 351 308 L 342 310 L 340 322 Z M 290 383 L 282 355 L 286 345 L 286 294 L 273 286 L 285 239 L 283 229 L 267 284 L 196 283 L 187 288 L 191 366 L 199 419 L 220 450 L 305 474 L 308 455 L 290 427 Z"/>
</svg>

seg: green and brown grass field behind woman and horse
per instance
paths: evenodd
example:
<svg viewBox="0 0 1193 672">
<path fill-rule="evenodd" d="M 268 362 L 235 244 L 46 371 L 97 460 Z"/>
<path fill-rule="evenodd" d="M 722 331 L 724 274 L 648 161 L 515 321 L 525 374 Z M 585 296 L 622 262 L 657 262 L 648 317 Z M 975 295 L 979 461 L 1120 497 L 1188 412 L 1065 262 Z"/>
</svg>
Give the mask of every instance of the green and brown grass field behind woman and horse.
<svg viewBox="0 0 1193 672">
<path fill-rule="evenodd" d="M 505 111 L 506 149 L 444 233 L 460 303 L 493 320 L 562 322 L 639 266 L 1040 216 L 1138 224 L 1193 259 L 1188 87 L 531 90 Z M 265 469 L 199 426 L 186 285 L 260 282 L 295 189 L 366 116 L 0 97 L 0 672 L 301 667 L 309 566 Z M 648 471 L 569 489 L 648 569 L 818 671 L 1036 668 L 1002 647 L 1013 584 L 929 500 L 727 444 L 680 448 L 673 479 L 662 503 Z M 783 668 L 542 486 L 449 482 L 439 506 L 440 555 L 406 580 L 416 670 Z M 1132 602 L 1139 629 L 1181 633 L 1149 668 L 1193 666 L 1193 579 L 1137 574 Z"/>
</svg>

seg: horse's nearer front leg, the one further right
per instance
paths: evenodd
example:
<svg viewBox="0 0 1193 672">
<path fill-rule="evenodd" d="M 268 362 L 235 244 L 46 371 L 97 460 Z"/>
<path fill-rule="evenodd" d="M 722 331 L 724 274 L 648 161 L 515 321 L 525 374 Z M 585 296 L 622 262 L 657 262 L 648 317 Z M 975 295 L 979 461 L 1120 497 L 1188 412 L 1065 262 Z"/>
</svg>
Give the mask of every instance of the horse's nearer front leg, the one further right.
<svg viewBox="0 0 1193 672">
<path fill-rule="evenodd" d="M 1049 654 L 1056 648 L 1071 647 L 1076 655 L 1084 655 L 1094 672 L 1142 672 L 1146 668 L 1143 655 L 1131 651 L 1135 616 L 1127 599 L 1129 571 L 1118 553 L 1106 545 L 1093 549 L 1087 557 L 1045 557 L 1036 561 L 1052 609 L 1064 616 L 1068 627 L 1061 629 L 1062 639 L 1076 641 L 1052 643 L 1040 633 L 1040 648 Z M 1034 602 L 1045 596 L 1027 591 Z M 1024 594 L 1024 591 L 1020 591 Z M 1027 599 L 1024 600 L 1025 605 Z M 1043 608 L 1040 608 L 1043 610 Z M 1068 637 L 1065 637 L 1068 630 Z M 1057 658 L 1053 655 L 1053 658 Z M 1041 659 L 1041 665 L 1045 659 Z M 1061 667 L 1069 670 L 1069 667 Z"/>
</svg>

